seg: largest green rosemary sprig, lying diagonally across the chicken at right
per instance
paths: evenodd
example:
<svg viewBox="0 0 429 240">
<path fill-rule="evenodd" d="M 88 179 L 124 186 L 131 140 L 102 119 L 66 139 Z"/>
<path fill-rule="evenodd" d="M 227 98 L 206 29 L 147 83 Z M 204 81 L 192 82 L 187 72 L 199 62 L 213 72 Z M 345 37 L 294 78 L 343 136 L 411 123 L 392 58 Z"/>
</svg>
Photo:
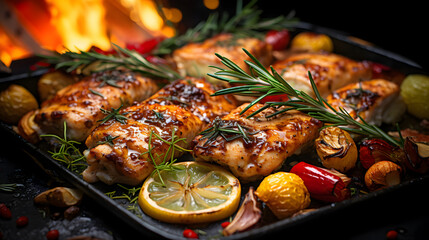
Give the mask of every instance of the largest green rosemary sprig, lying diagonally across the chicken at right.
<svg viewBox="0 0 429 240">
<path fill-rule="evenodd" d="M 350 114 L 343 108 L 336 110 L 329 105 L 329 103 L 321 97 L 310 72 L 308 72 L 308 75 L 316 96 L 315 98 L 311 97 L 304 91 L 294 89 L 281 77 L 280 74 L 277 73 L 277 71 L 274 70 L 273 67 L 270 67 L 271 72 L 269 72 L 252 54 L 250 54 L 246 49 L 243 50 L 252 59 L 252 61 L 245 61 L 245 63 L 250 67 L 250 72 L 252 72 L 252 74 L 246 73 L 243 69 L 237 66 L 237 64 L 219 54 L 216 55 L 228 69 L 214 67 L 219 71 L 215 74 L 208 74 L 211 77 L 223 81 L 239 84 L 239 86 L 219 90 L 213 94 L 215 96 L 236 94 L 257 97 L 245 109 L 243 109 L 241 114 L 246 112 L 250 107 L 266 96 L 286 93 L 290 98 L 288 101 L 267 102 L 263 107 L 250 114 L 248 118 L 260 113 L 264 109 L 272 107 L 275 108 L 276 111 L 273 114 L 266 116 L 267 118 L 274 117 L 289 110 L 298 110 L 325 123 L 339 126 L 344 130 L 360 135 L 382 138 L 393 145 L 400 147 L 403 146 L 402 141 L 389 136 L 377 126 L 367 123 L 359 116 L 359 114 L 358 119 L 360 121 L 350 116 Z"/>
</svg>

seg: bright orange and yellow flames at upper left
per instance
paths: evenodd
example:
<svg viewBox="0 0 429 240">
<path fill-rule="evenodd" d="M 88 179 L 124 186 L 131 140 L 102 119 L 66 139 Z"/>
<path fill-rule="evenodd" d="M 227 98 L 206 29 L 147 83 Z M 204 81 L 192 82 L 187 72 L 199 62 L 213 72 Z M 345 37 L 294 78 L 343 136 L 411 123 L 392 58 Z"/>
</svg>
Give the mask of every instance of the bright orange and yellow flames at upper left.
<svg viewBox="0 0 429 240">
<path fill-rule="evenodd" d="M 156 0 L 6 0 L 24 31 L 40 49 L 62 52 L 87 51 L 96 46 L 108 50 L 111 42 L 124 46 L 152 36 L 174 35 L 159 16 Z M 172 22 L 182 18 L 180 10 L 163 8 Z M 40 53 L 31 44 L 14 44 L 0 23 L 0 60 L 6 65 L 28 53 Z M 10 31 L 9 31 L 10 32 Z M 5 40 L 8 38 L 8 40 Z"/>
</svg>

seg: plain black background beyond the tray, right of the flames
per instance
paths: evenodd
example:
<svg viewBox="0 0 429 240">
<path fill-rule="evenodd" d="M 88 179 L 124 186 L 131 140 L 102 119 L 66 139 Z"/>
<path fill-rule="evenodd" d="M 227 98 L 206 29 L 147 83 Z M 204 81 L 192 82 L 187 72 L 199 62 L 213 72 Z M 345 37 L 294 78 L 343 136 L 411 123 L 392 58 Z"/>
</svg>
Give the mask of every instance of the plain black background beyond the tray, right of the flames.
<svg viewBox="0 0 429 240">
<path fill-rule="evenodd" d="M 205 20 L 210 11 L 200 0 L 169 1 L 183 12 L 183 24 L 194 26 Z M 243 5 L 250 1 L 243 0 Z M 332 28 L 366 40 L 376 46 L 414 60 L 425 69 L 429 54 L 429 21 L 425 1 L 362 2 L 343 1 L 341 4 L 328 1 L 276 1 L 260 0 L 263 17 L 287 15 L 295 10 L 296 17 L 322 27 Z M 234 14 L 237 1 L 220 0 L 215 11 Z"/>
</svg>

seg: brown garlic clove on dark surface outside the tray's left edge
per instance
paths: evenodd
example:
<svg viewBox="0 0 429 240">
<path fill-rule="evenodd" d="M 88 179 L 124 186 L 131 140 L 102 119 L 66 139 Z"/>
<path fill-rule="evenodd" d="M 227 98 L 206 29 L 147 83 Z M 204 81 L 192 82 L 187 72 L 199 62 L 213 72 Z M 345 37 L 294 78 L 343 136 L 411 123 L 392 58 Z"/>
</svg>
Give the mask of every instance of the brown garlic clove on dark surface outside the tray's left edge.
<svg viewBox="0 0 429 240">
<path fill-rule="evenodd" d="M 56 187 L 42 192 L 34 198 L 34 203 L 55 207 L 74 206 L 82 200 L 83 193 L 78 189 Z"/>
</svg>

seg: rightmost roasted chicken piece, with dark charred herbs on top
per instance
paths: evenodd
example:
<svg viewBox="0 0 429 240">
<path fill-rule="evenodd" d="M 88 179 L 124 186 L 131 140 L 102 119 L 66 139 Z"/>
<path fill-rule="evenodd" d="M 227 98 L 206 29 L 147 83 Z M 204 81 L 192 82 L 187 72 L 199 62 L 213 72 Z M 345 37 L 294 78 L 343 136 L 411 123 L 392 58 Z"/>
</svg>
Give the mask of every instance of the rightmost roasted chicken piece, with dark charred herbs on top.
<svg viewBox="0 0 429 240">
<path fill-rule="evenodd" d="M 399 94 L 399 86 L 383 79 L 349 84 L 334 91 L 327 102 L 339 110 L 346 110 L 356 120 L 358 114 L 366 122 L 381 125 L 400 120 L 406 106 Z"/>
</svg>

